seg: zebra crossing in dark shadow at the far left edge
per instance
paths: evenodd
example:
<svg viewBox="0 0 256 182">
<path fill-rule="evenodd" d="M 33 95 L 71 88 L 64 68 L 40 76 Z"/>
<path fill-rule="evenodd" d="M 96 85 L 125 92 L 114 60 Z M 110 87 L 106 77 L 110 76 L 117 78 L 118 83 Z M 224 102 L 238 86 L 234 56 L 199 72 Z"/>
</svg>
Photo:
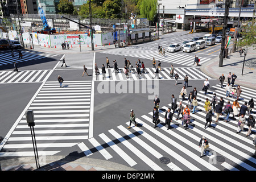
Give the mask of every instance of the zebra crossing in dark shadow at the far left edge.
<svg viewBox="0 0 256 182">
<path fill-rule="evenodd" d="M 38 52 L 38 51 L 30 51 L 30 50 L 22 50 L 22 59 L 19 58 L 19 53 L 14 51 L 14 57 L 11 56 L 11 52 L 1 53 L 0 54 L 0 66 L 1 65 L 7 65 L 7 64 L 14 64 L 16 63 L 22 63 L 25 61 L 31 61 L 31 60 L 38 60 L 38 59 L 44 59 L 49 57 L 55 57 L 60 56 L 59 54 L 52 54 L 52 53 L 44 53 L 44 52 Z"/>
</svg>

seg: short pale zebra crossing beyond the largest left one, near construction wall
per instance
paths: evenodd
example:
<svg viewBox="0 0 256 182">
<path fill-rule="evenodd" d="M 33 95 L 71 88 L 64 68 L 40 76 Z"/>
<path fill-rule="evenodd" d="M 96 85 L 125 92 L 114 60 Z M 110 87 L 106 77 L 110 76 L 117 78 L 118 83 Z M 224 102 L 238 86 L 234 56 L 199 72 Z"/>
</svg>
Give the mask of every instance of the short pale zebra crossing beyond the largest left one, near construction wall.
<svg viewBox="0 0 256 182">
<path fill-rule="evenodd" d="M 66 55 L 65 63 L 67 67 L 61 67 L 63 65 L 62 61 L 57 65 L 55 70 L 67 70 L 67 69 L 80 69 L 84 70 L 84 65 L 87 69 L 93 68 L 93 53 L 88 53 L 86 57 L 81 57 L 81 55 Z"/>
</svg>

